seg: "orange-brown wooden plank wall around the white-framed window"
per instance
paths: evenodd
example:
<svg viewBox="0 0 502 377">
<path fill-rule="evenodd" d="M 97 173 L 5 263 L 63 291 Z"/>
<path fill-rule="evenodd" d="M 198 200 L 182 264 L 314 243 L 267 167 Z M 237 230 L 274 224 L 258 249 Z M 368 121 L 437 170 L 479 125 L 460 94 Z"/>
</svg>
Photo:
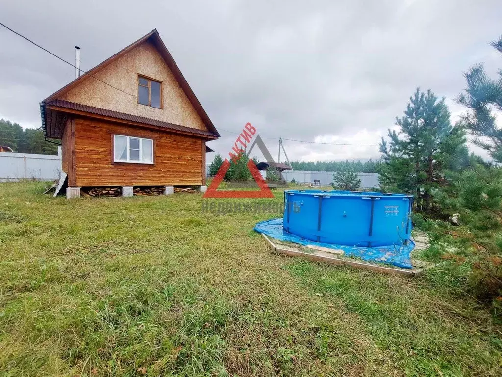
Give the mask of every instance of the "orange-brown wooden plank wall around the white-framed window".
<svg viewBox="0 0 502 377">
<path fill-rule="evenodd" d="M 113 134 L 153 139 L 155 164 L 114 163 Z M 76 185 L 203 184 L 202 149 L 199 138 L 77 118 Z"/>
</svg>

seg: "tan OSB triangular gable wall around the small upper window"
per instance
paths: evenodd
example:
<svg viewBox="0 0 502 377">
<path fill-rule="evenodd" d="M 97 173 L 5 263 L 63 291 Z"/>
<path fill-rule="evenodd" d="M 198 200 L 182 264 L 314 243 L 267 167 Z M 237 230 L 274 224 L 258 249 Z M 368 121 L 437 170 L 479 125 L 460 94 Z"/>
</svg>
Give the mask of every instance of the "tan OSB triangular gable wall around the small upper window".
<svg viewBox="0 0 502 377">
<path fill-rule="evenodd" d="M 162 82 L 163 109 L 138 104 L 138 74 Z M 173 73 L 151 42 L 142 43 L 94 76 L 134 97 L 93 77 L 87 77 L 59 99 L 207 130 Z"/>
</svg>

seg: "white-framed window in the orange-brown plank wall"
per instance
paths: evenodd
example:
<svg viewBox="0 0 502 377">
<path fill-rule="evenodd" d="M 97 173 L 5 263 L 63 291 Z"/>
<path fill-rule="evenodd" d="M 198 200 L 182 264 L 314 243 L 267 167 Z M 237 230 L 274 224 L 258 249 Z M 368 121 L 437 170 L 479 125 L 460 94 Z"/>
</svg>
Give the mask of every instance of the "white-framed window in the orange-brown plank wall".
<svg viewBox="0 0 502 377">
<path fill-rule="evenodd" d="M 154 163 L 154 141 L 140 137 L 113 135 L 115 162 Z"/>
</svg>

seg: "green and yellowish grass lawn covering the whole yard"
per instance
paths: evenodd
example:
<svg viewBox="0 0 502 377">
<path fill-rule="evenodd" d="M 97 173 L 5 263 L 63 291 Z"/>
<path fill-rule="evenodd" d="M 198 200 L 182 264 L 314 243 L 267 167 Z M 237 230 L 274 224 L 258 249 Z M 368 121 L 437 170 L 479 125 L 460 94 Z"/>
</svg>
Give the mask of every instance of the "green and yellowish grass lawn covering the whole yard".
<svg viewBox="0 0 502 377">
<path fill-rule="evenodd" d="M 199 194 L 43 189 L 0 184 L 2 377 L 502 375 L 490 315 L 428 275 L 275 255 L 253 231 L 273 215 Z"/>
</svg>

